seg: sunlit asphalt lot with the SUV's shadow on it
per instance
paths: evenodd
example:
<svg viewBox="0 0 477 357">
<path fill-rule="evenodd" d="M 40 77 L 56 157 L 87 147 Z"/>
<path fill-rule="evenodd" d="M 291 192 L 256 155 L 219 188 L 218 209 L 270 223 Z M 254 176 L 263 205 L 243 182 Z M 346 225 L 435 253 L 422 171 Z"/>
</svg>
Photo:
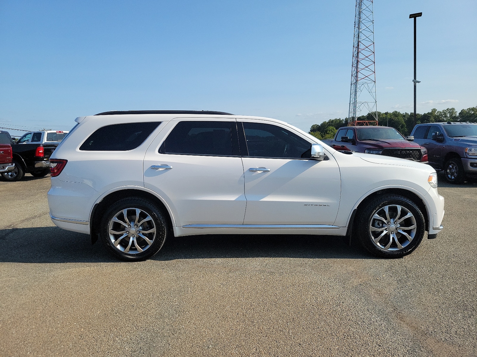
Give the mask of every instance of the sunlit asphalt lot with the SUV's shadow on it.
<svg viewBox="0 0 477 357">
<path fill-rule="evenodd" d="M 477 185 L 377 259 L 316 236 L 171 238 L 119 262 L 54 227 L 50 179 L 0 182 L 0 356 L 476 356 Z"/>
</svg>

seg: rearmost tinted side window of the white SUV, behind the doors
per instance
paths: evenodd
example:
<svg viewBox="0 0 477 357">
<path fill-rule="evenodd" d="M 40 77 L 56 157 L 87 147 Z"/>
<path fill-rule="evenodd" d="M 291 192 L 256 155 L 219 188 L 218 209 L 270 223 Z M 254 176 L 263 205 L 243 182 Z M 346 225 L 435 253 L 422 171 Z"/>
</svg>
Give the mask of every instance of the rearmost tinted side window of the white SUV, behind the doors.
<svg viewBox="0 0 477 357">
<path fill-rule="evenodd" d="M 80 147 L 88 151 L 127 151 L 137 148 L 160 122 L 107 125 L 97 129 Z"/>
</svg>

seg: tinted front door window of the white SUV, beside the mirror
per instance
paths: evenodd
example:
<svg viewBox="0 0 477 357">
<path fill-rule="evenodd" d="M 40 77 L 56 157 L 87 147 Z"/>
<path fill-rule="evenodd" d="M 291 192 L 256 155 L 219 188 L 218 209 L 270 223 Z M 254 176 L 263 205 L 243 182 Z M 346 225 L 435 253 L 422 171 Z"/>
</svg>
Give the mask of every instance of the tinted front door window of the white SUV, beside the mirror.
<svg viewBox="0 0 477 357">
<path fill-rule="evenodd" d="M 259 158 L 310 158 L 311 143 L 271 124 L 243 123 L 249 156 Z"/>
</svg>

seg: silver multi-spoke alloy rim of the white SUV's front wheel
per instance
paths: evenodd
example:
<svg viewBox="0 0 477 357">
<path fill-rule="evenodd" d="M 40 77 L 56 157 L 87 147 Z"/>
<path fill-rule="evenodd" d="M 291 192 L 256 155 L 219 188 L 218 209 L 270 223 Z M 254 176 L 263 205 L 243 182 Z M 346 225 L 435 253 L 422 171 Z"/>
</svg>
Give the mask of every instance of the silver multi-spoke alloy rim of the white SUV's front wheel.
<svg viewBox="0 0 477 357">
<path fill-rule="evenodd" d="M 369 225 L 373 243 L 387 251 L 405 248 L 412 242 L 416 230 L 414 215 L 400 205 L 388 205 L 378 209 Z"/>
</svg>

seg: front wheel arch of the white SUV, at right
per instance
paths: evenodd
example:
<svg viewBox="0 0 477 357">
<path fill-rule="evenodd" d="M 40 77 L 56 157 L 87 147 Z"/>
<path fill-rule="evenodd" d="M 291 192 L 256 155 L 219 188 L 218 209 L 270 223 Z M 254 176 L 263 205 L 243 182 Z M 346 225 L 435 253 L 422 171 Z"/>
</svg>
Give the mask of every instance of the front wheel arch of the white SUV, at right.
<svg viewBox="0 0 477 357">
<path fill-rule="evenodd" d="M 432 221 L 432 208 L 430 207 L 429 203 L 427 202 L 427 199 L 422 195 L 422 193 L 410 187 L 401 186 L 401 187 L 376 188 L 366 193 L 365 195 L 363 195 L 363 197 L 360 198 L 358 202 L 356 202 L 351 212 L 354 212 L 354 210 L 356 209 L 356 212 L 359 214 L 360 209 L 363 208 L 367 202 L 369 202 L 373 198 L 376 198 L 378 196 L 382 196 L 385 194 L 400 195 L 413 201 L 417 205 L 417 207 L 421 209 L 425 219 L 425 230 L 428 230 L 429 222 Z M 348 229 L 350 229 L 350 225 L 354 227 L 354 225 L 356 224 L 356 219 L 353 219 L 353 221 L 351 221 L 352 218 L 354 217 L 352 217 L 352 214 L 350 214 L 350 217 L 348 218 L 348 225 L 347 225 Z"/>
</svg>

